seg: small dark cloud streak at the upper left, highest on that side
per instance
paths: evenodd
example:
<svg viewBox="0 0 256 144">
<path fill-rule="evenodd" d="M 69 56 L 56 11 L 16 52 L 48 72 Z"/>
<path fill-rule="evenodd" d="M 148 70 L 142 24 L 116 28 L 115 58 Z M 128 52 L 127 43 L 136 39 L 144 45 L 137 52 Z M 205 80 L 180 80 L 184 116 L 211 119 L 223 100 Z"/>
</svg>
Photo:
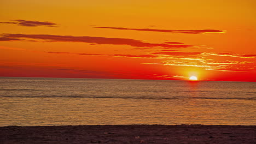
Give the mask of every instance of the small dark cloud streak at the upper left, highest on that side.
<svg viewBox="0 0 256 144">
<path fill-rule="evenodd" d="M 36 27 L 36 26 L 56 27 L 56 23 L 53 23 L 53 22 L 27 21 L 27 20 L 12 20 L 12 21 L 15 21 L 15 22 L 0 22 L 0 23 L 15 24 L 18 26 L 25 26 L 25 27 Z"/>
</svg>

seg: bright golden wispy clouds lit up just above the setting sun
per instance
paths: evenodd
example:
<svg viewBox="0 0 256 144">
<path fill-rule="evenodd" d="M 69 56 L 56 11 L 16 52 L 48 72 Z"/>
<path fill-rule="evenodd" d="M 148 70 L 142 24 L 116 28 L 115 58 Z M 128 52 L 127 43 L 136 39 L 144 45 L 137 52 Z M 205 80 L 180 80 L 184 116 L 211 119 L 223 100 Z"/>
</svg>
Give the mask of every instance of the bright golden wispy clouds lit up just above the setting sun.
<svg viewBox="0 0 256 144">
<path fill-rule="evenodd" d="M 194 53 L 168 53 L 166 59 L 163 59 L 161 62 L 147 62 L 142 64 L 156 64 L 156 65 L 173 65 L 173 66 L 186 66 L 186 67 L 199 67 L 205 70 L 217 70 L 217 71 L 233 71 L 233 72 L 253 72 L 255 71 L 255 62 L 251 59 L 249 61 L 214 61 L 214 59 L 209 59 L 208 57 L 203 56 L 204 53 L 194 56 Z M 179 56 L 181 55 L 181 56 Z M 223 53 L 222 53 L 223 55 Z M 226 55 L 226 54 L 225 54 Z M 232 54 L 233 55 L 233 54 Z M 232 56 L 230 55 L 230 56 Z M 237 54 L 234 54 L 235 56 Z M 254 55 L 252 55 L 254 56 Z M 249 57 L 252 57 L 251 55 Z M 240 55 L 237 57 L 240 58 Z M 242 57 L 245 58 L 245 57 Z"/>
</svg>

